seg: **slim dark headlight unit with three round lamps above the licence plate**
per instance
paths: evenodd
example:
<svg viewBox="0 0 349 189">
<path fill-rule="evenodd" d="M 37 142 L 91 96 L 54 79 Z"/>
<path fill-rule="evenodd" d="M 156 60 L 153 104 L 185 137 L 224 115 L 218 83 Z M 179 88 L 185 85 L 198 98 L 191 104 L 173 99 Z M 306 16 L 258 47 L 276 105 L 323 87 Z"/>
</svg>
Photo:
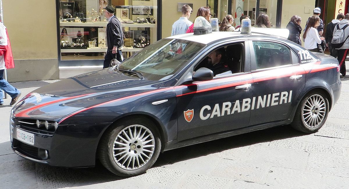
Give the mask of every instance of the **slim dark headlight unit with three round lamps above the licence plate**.
<svg viewBox="0 0 349 189">
<path fill-rule="evenodd" d="M 53 135 L 58 127 L 55 121 L 37 120 L 37 119 L 14 119 L 14 125 L 35 133 Z"/>
</svg>

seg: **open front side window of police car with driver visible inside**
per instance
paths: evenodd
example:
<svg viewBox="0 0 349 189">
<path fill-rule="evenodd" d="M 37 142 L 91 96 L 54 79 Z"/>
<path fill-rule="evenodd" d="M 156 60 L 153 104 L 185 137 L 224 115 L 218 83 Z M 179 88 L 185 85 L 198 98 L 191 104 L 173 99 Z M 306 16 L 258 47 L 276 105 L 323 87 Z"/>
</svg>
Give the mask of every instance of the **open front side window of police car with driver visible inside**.
<svg viewBox="0 0 349 189">
<path fill-rule="evenodd" d="M 210 51 L 194 68 L 205 67 L 213 71 L 214 76 L 224 76 L 243 71 L 244 46 L 241 43 L 221 46 Z"/>
</svg>

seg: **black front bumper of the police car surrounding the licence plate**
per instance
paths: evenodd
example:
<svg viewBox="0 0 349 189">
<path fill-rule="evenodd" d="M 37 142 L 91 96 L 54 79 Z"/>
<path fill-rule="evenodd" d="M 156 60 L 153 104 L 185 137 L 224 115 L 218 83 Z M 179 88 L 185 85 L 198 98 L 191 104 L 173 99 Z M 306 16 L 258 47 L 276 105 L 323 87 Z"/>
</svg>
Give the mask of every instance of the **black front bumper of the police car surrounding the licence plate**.
<svg viewBox="0 0 349 189">
<path fill-rule="evenodd" d="M 35 145 L 23 143 L 14 136 L 12 149 L 19 156 L 42 164 L 90 167 L 95 165 L 99 139 L 109 125 L 110 123 L 59 125 L 54 134 L 43 134 L 16 125 L 13 133 L 20 128 L 34 134 Z"/>
</svg>

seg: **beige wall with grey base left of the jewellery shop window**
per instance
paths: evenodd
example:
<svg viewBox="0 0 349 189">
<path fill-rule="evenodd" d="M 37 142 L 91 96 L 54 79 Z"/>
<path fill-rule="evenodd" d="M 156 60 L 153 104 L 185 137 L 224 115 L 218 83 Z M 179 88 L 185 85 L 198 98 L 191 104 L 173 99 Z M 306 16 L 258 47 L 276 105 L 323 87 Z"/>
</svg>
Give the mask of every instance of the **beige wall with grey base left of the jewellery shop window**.
<svg viewBox="0 0 349 189">
<path fill-rule="evenodd" d="M 5 0 L 2 7 L 15 60 L 8 81 L 58 79 L 56 2 Z"/>
</svg>

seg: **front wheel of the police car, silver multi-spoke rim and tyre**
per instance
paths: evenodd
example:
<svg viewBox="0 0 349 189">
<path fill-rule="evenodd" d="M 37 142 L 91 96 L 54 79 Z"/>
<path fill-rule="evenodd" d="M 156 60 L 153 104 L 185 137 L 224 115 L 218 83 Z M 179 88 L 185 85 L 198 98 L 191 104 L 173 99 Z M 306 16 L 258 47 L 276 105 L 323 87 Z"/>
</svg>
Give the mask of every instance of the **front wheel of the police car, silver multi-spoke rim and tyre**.
<svg viewBox="0 0 349 189">
<path fill-rule="evenodd" d="M 120 121 L 105 131 L 98 157 L 102 165 L 119 176 L 135 176 L 154 165 L 161 150 L 155 124 L 144 118 Z"/>
</svg>

